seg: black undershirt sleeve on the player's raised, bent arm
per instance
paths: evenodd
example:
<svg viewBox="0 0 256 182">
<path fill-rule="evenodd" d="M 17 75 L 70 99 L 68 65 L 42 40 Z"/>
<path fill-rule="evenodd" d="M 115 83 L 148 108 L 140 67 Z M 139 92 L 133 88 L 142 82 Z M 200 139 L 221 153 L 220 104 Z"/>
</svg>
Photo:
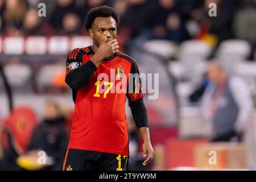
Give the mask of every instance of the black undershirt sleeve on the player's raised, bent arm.
<svg viewBox="0 0 256 182">
<path fill-rule="evenodd" d="M 92 78 L 96 69 L 96 65 L 92 61 L 88 60 L 85 64 L 81 65 L 81 67 L 69 72 L 65 78 L 65 82 L 73 90 L 77 90 Z"/>
</svg>

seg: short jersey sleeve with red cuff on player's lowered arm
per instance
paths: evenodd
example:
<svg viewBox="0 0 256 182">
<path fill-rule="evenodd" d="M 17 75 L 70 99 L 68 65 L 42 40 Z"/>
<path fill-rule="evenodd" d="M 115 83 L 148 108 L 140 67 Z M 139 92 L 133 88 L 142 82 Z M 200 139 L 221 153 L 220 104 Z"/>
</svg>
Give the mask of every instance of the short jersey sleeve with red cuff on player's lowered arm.
<svg viewBox="0 0 256 182">
<path fill-rule="evenodd" d="M 131 74 L 127 85 L 127 98 L 129 101 L 137 101 L 143 98 L 139 68 L 135 60 L 131 63 Z"/>
</svg>

